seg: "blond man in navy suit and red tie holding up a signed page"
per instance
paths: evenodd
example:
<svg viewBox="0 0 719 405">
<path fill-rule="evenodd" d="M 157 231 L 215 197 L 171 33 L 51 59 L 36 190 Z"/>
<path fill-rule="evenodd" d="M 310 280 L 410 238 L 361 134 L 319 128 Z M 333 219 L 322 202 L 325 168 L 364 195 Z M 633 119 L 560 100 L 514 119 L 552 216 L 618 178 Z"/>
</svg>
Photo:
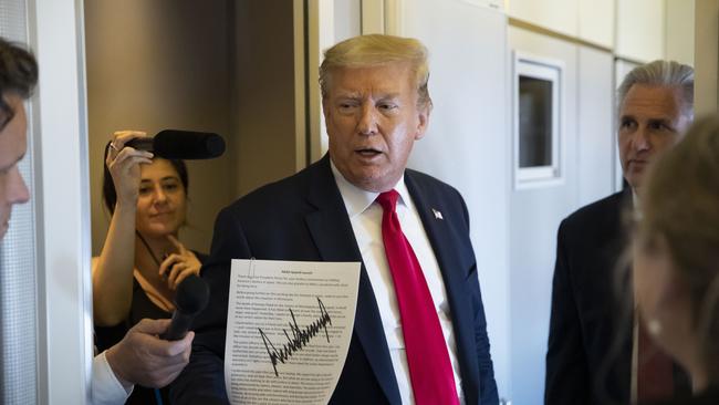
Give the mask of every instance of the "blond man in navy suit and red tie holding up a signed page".
<svg viewBox="0 0 719 405">
<path fill-rule="evenodd" d="M 330 150 L 218 216 L 204 270 L 210 303 L 175 403 L 223 404 L 239 390 L 226 387 L 222 363 L 236 258 L 362 261 L 330 404 L 499 403 L 467 206 L 451 186 L 406 168 L 429 124 L 427 77 L 427 50 L 414 39 L 355 37 L 325 52 Z M 292 393 L 274 394 L 292 403 Z"/>
</svg>

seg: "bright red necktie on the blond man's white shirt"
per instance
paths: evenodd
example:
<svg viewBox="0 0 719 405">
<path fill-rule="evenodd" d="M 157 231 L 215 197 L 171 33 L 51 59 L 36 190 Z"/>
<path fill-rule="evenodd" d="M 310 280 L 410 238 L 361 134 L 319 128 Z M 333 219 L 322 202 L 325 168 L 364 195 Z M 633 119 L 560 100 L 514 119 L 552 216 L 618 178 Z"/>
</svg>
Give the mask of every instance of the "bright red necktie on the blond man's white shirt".
<svg viewBox="0 0 719 405">
<path fill-rule="evenodd" d="M 409 380 L 417 405 L 459 404 L 445 336 L 425 276 L 395 211 L 399 195 L 381 194 L 382 239 L 399 305 Z"/>
</svg>

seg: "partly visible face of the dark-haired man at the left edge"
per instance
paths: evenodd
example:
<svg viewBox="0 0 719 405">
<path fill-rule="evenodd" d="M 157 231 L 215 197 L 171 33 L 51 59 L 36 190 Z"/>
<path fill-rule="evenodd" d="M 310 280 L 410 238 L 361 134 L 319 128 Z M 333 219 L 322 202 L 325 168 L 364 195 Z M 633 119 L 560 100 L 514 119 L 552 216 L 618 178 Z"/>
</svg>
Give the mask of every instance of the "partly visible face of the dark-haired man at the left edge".
<svg viewBox="0 0 719 405">
<path fill-rule="evenodd" d="M 4 101 L 13 115 L 8 121 L 8 113 L 0 110 L 0 239 L 8 231 L 12 205 L 30 198 L 18 170 L 18 162 L 28 149 L 25 107 L 22 97 L 15 94 L 6 94 Z"/>
</svg>

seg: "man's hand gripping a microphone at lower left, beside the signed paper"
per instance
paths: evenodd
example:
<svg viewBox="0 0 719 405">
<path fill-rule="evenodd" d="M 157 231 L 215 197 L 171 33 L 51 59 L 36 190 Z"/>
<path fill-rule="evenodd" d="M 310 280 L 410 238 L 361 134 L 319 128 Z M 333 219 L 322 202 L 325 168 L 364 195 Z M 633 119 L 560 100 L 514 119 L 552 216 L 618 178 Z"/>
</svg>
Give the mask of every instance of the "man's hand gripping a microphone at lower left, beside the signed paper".
<svg viewBox="0 0 719 405">
<path fill-rule="evenodd" d="M 157 338 L 169 323 L 168 319 L 144 319 L 127 331 L 119 343 L 107 350 L 107 363 L 123 385 L 132 383 L 164 387 L 185 368 L 190 359 L 195 332 L 187 333 L 179 341 Z"/>
</svg>

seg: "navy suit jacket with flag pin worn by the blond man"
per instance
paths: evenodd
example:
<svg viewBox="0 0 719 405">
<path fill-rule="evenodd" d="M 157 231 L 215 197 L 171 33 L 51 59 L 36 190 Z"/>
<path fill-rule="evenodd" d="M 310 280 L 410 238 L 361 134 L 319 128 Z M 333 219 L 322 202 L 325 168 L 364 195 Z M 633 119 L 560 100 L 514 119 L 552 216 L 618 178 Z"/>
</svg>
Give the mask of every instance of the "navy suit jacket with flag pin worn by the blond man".
<svg viewBox="0 0 719 405">
<path fill-rule="evenodd" d="M 497 404 L 467 207 L 456 189 L 427 175 L 408 169 L 405 183 L 442 272 L 467 404 Z M 435 218 L 433 208 L 442 212 L 444 220 Z M 211 299 L 195 328 L 190 363 L 173 384 L 174 403 L 227 402 L 222 360 L 230 260 L 250 257 L 362 261 L 329 156 L 294 176 L 251 193 L 219 214 L 210 259 L 202 269 Z M 331 403 L 400 403 L 364 266 L 352 341 Z"/>
</svg>

